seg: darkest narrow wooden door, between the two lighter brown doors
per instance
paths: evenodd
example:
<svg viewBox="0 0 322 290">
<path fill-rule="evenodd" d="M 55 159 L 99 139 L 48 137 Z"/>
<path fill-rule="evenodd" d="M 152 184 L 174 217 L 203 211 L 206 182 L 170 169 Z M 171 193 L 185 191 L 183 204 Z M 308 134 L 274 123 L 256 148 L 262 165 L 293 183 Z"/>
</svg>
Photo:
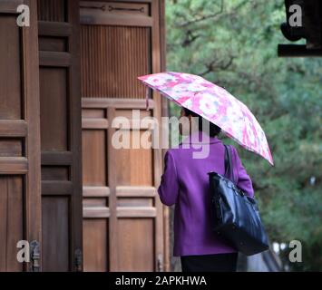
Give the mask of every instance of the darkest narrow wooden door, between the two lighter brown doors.
<svg viewBox="0 0 322 290">
<path fill-rule="evenodd" d="M 44 271 L 82 270 L 77 0 L 38 0 Z"/>
</svg>

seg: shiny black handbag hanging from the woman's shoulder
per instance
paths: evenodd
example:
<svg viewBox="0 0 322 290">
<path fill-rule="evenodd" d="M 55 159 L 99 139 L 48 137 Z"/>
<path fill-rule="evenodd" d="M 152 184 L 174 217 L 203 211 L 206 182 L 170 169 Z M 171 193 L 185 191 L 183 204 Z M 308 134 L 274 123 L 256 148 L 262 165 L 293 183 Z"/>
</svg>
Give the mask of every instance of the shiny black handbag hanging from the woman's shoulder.
<svg viewBox="0 0 322 290">
<path fill-rule="evenodd" d="M 225 145 L 225 176 L 213 171 L 208 173 L 211 226 L 239 252 L 250 256 L 268 250 L 268 237 L 256 200 L 234 183 L 229 151 Z"/>
</svg>

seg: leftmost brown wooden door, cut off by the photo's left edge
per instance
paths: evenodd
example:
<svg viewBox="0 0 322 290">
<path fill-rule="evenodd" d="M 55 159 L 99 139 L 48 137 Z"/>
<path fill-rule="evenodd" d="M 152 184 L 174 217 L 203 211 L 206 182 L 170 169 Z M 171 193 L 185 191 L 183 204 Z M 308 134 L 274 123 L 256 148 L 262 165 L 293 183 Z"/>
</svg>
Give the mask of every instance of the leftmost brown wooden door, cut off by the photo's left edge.
<svg viewBox="0 0 322 290">
<path fill-rule="evenodd" d="M 16 23 L 22 4 L 30 26 Z M 35 0 L 0 2 L 0 271 L 33 270 L 17 261 L 17 243 L 41 242 L 36 21 Z"/>
</svg>

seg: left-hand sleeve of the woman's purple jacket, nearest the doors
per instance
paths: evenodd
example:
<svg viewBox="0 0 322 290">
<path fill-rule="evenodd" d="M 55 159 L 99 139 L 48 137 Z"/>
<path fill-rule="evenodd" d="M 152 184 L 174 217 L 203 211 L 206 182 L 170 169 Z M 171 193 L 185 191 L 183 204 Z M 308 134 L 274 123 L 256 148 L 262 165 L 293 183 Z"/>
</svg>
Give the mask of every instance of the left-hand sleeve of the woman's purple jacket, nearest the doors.
<svg viewBox="0 0 322 290">
<path fill-rule="evenodd" d="M 161 176 L 161 184 L 158 193 L 161 202 L 167 206 L 175 204 L 179 195 L 177 169 L 173 156 L 169 150 L 164 156 L 164 172 Z"/>
</svg>

